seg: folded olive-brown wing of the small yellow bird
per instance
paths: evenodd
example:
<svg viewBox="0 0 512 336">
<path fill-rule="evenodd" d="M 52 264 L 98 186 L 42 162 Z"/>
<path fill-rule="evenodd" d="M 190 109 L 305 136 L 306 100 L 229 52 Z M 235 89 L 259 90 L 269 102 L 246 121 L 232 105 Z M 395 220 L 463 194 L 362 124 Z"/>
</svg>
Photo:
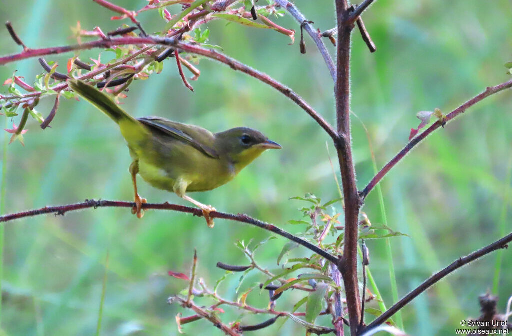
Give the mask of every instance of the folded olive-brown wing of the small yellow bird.
<svg viewBox="0 0 512 336">
<path fill-rule="evenodd" d="M 193 146 L 204 154 L 211 156 L 211 158 L 219 159 L 219 153 L 205 143 L 205 138 L 211 136 L 213 139 L 214 137 L 214 135 L 206 129 L 170 121 L 160 117 L 143 117 L 138 118 L 137 120 L 150 128 L 158 129 L 176 140 Z"/>
</svg>

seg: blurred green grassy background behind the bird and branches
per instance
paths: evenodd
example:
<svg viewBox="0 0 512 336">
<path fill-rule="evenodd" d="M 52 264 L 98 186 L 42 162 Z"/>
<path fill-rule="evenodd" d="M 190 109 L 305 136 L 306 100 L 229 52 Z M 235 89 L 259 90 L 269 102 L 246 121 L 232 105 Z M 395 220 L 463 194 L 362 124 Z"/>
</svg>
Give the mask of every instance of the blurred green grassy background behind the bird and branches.
<svg viewBox="0 0 512 336">
<path fill-rule="evenodd" d="M 147 4 L 136 0 L 117 3 L 133 10 Z M 315 27 L 322 31 L 334 27 L 332 1 L 295 3 Z M 172 8 L 173 13 L 178 9 Z M 354 32 L 352 109 L 369 129 L 379 167 L 407 143 L 411 127 L 419 123 L 417 111 L 439 107 L 447 113 L 486 86 L 510 78 L 503 64 L 512 61 L 511 14 L 512 4 L 506 0 L 388 0 L 368 10 L 364 19 L 377 52 L 370 54 Z M 74 43 L 70 27 L 77 21 L 87 30 L 96 26 L 105 32 L 114 30 L 120 21 L 111 21 L 112 15 L 91 1 L 28 0 L 22 5 L 6 0 L 0 21 L 11 20 L 29 47 L 42 48 Z M 139 19 L 149 32 L 163 27 L 156 11 L 142 13 Z M 300 30 L 290 16 L 276 22 Z M 272 31 L 226 26 L 220 21 L 207 26 L 211 44 L 291 86 L 335 122 L 333 82 L 309 37 L 308 53 L 301 55 L 298 42 L 289 46 L 288 37 Z M 3 55 L 20 51 L 5 29 L 0 29 L 0 46 Z M 86 60 L 97 52 L 84 52 L 81 58 Z M 46 59 L 59 61 L 63 72 L 71 56 Z M 111 58 L 112 53 L 102 53 L 103 61 Z M 304 230 L 286 224 L 302 216 L 297 210 L 302 204 L 289 197 L 306 192 L 326 200 L 337 197 L 328 137 L 302 109 L 269 86 L 208 60 L 202 60 L 199 69 L 201 76 L 191 82 L 195 88 L 191 93 L 183 86 L 174 59 L 165 61 L 162 74 L 133 83 L 124 107 L 135 116 L 159 115 L 212 131 L 242 125 L 264 131 L 283 150 L 265 153 L 223 187 L 192 195 L 220 211 L 248 213 L 292 232 Z M 14 70 L 28 82 L 42 72 L 34 58 L 2 66 L 0 79 L 9 78 Z M 46 116 L 52 105 L 52 99 L 45 99 L 38 110 Z M 410 235 L 391 240 L 400 296 L 459 256 L 497 239 L 503 230 L 500 222 L 505 232 L 510 231 L 510 220 L 502 214 L 512 204 L 505 198 L 510 189 L 506 176 L 512 168 L 511 112 L 510 91 L 485 100 L 437 131 L 383 180 L 388 224 Z M 17 124 L 19 117 L 14 121 Z M 7 166 L 1 167 L 6 173 L 7 213 L 86 198 L 132 199 L 127 171 L 130 155 L 114 123 L 85 102 L 63 100 L 51 126 L 41 130 L 31 119 L 25 148 L 19 142 L 8 146 Z M 362 188 L 373 176 L 370 149 L 357 119 L 353 119 L 352 130 L 357 184 Z M 6 141 L 6 134 L 0 138 Z M 140 193 L 151 202 L 185 204 L 176 195 L 144 182 Z M 367 198 L 364 211 L 373 223 L 382 223 L 376 191 Z M 127 209 L 107 208 L 6 223 L 3 333 L 95 333 L 110 254 L 101 334 L 178 334 L 175 315 L 189 312 L 168 305 L 166 298 L 186 283 L 170 278 L 167 271 L 188 273 L 197 248 L 199 274 L 212 287 L 224 274 L 215 267 L 217 261 L 247 264 L 234 242 L 269 236 L 237 222 L 218 219 L 216 224 L 211 230 L 202 218 L 166 211 L 148 211 L 139 220 Z M 258 261 L 279 270 L 276 256 L 285 242 L 283 238 L 268 242 L 259 250 Z M 385 243 L 372 240 L 368 245 L 371 270 L 390 306 Z M 292 255 L 309 253 L 299 248 Z M 415 335 L 453 333 L 460 319 L 477 317 L 478 295 L 493 286 L 496 256 L 462 268 L 403 309 L 406 330 Z M 499 293 L 494 293 L 500 296 L 501 311 L 512 295 L 511 262 L 512 253 L 504 251 Z M 265 279 L 254 271 L 249 275 L 242 291 Z M 220 293 L 235 299 L 238 279 L 231 275 Z M 296 291 L 285 293 L 277 308 L 291 309 L 301 297 Z M 259 290 L 248 298 L 261 307 L 267 300 L 267 294 L 260 295 Z M 224 308 L 225 321 L 240 318 L 239 311 Z M 251 324 L 266 318 L 245 315 L 242 321 Z M 330 325 L 330 318 L 317 322 Z M 252 334 L 304 332 L 291 321 L 278 327 Z M 207 321 L 187 324 L 184 330 L 191 335 L 223 334 Z"/>
</svg>

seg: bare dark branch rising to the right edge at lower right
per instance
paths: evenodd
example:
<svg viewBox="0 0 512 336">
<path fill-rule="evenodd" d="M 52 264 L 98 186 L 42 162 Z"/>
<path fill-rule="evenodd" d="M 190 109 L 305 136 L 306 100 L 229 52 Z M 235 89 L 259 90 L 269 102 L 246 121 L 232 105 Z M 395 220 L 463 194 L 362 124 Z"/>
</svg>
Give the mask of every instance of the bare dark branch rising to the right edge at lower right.
<svg viewBox="0 0 512 336">
<path fill-rule="evenodd" d="M 403 306 L 411 302 L 414 298 L 416 298 L 418 295 L 423 293 L 426 289 L 428 289 L 430 286 L 444 278 L 445 276 L 449 275 L 450 273 L 454 272 L 458 268 L 472 262 L 473 260 L 476 260 L 480 257 L 483 257 L 486 254 L 489 254 L 493 251 L 496 251 L 498 249 L 506 249 L 508 248 L 508 243 L 512 241 L 512 233 L 508 234 L 507 236 L 493 242 L 492 244 L 487 245 L 486 247 L 481 248 L 480 250 L 473 252 L 472 254 L 469 254 L 465 257 L 459 258 L 452 262 L 449 266 L 443 268 L 443 270 L 437 272 L 430 278 L 426 279 L 421 283 L 418 287 L 413 289 L 409 294 L 404 296 L 400 301 L 395 303 L 392 307 L 390 307 L 388 310 L 382 313 L 378 318 L 376 318 L 372 323 L 370 323 L 364 330 L 361 330 L 361 332 L 370 330 L 388 320 L 390 317 L 393 316 L 395 312 L 400 310 Z"/>
</svg>

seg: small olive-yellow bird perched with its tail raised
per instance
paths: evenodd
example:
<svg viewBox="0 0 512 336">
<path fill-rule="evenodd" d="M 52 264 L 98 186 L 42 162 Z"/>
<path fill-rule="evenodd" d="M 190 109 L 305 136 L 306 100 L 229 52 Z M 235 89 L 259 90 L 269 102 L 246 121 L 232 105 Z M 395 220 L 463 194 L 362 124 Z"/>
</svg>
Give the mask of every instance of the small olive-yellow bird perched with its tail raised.
<svg viewBox="0 0 512 336">
<path fill-rule="evenodd" d="M 236 127 L 212 133 L 190 124 L 162 117 L 134 118 L 112 98 L 81 81 L 68 80 L 75 93 L 114 120 L 130 149 L 130 173 L 135 193 L 133 214 L 142 218 L 142 204 L 147 203 L 137 190 L 137 174 L 158 189 L 175 192 L 203 212 L 208 227 L 215 225 L 210 217 L 217 211 L 188 196 L 186 192 L 207 191 L 231 181 L 267 149 L 281 149 L 262 132 L 249 127 Z"/>
</svg>

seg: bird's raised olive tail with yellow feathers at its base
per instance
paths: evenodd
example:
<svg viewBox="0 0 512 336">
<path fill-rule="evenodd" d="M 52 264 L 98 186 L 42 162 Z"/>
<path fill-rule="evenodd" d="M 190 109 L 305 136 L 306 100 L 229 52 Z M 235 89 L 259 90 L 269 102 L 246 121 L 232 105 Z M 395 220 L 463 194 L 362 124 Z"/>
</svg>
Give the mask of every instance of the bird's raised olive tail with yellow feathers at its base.
<svg viewBox="0 0 512 336">
<path fill-rule="evenodd" d="M 136 143 L 147 139 L 150 133 L 149 130 L 137 119 L 127 114 L 126 111 L 119 107 L 109 96 L 81 80 L 71 79 L 68 80 L 68 84 L 74 92 L 119 124 L 121 133 L 129 145 L 137 147 Z"/>
</svg>

